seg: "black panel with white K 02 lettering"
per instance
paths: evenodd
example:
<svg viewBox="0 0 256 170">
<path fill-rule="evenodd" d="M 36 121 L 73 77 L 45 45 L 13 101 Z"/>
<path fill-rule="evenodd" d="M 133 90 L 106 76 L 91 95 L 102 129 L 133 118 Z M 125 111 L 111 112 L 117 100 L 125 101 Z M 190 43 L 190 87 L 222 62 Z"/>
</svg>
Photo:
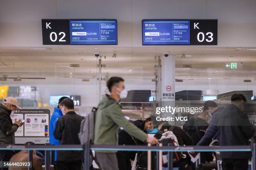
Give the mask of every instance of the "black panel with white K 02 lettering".
<svg viewBox="0 0 256 170">
<path fill-rule="evenodd" d="M 42 19 L 43 45 L 69 45 L 69 20 Z"/>
</svg>

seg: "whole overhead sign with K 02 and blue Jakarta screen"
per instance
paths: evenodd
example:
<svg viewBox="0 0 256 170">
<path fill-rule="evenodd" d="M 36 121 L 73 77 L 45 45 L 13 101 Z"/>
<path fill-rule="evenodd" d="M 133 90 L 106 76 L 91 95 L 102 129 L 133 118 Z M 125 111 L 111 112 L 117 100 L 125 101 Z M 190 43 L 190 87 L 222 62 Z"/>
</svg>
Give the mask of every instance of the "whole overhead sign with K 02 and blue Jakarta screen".
<svg viewBox="0 0 256 170">
<path fill-rule="evenodd" d="M 117 45 L 117 20 L 42 19 L 43 45 Z"/>
</svg>

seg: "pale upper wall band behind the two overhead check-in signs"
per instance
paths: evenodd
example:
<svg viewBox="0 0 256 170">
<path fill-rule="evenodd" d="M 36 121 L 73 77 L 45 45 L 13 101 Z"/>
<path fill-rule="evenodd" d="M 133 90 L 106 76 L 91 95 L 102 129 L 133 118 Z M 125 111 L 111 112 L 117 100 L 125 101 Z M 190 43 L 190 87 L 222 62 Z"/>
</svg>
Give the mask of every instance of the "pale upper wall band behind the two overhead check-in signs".
<svg viewBox="0 0 256 170">
<path fill-rule="evenodd" d="M 146 18 L 218 19 L 218 46 L 256 46 L 255 9 L 255 0 L 0 0 L 0 46 L 42 46 L 41 19 L 57 16 L 116 18 L 115 47 L 140 47 Z"/>
</svg>

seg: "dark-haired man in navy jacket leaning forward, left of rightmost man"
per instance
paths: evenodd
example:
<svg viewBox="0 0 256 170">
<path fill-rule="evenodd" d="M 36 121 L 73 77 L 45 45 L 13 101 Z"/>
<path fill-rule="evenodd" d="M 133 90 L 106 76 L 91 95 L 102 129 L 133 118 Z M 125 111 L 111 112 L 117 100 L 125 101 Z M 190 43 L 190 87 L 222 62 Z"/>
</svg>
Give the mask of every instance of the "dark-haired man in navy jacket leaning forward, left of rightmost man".
<svg viewBox="0 0 256 170">
<path fill-rule="evenodd" d="M 204 104 L 204 110 L 206 110 L 209 115 L 212 117 L 210 121 L 210 125 L 208 126 L 205 135 L 202 139 L 197 143 L 198 146 L 202 145 L 210 145 L 212 140 L 218 140 L 218 127 L 217 127 L 217 119 L 218 115 L 220 115 L 224 107 L 218 107 L 218 105 L 214 101 L 206 101 Z"/>
</svg>

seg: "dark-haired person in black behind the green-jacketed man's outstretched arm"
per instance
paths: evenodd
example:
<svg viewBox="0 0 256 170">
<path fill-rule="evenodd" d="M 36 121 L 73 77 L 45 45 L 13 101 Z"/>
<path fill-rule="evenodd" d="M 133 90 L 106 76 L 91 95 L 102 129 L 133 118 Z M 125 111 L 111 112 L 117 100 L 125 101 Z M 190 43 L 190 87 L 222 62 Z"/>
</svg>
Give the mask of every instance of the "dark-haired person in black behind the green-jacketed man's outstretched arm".
<svg viewBox="0 0 256 170">
<path fill-rule="evenodd" d="M 135 120 L 133 121 L 139 129 L 143 130 L 145 133 L 150 132 L 154 129 L 153 121 L 156 119 L 155 116 L 150 116 L 146 120 Z M 120 130 L 118 133 L 118 145 L 143 145 L 144 142 L 133 138 L 132 135 L 125 132 L 125 130 Z M 118 151 L 118 168 L 119 170 L 131 170 L 131 160 L 134 160 L 137 152 L 134 151 Z"/>
</svg>

